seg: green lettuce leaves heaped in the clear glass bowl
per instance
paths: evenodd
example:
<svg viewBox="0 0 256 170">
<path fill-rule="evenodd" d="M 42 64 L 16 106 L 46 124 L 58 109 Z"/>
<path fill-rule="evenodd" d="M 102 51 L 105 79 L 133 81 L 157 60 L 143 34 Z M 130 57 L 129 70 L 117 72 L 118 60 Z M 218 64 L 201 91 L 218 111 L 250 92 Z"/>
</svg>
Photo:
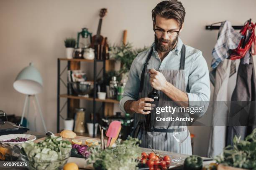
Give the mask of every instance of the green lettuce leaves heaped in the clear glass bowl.
<svg viewBox="0 0 256 170">
<path fill-rule="evenodd" d="M 68 140 L 51 135 L 40 143 L 28 141 L 21 144 L 22 153 L 27 156 L 30 166 L 37 170 L 54 170 L 69 158 L 72 145 Z"/>
</svg>

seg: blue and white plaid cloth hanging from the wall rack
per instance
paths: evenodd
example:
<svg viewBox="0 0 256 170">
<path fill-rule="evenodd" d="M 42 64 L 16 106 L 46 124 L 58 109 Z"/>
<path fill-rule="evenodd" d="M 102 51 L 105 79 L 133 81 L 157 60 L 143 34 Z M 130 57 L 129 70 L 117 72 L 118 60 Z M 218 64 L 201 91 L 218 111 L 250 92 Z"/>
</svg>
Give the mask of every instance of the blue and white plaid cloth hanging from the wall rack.
<svg viewBox="0 0 256 170">
<path fill-rule="evenodd" d="M 212 69 L 215 69 L 220 62 L 229 57 L 228 50 L 236 49 L 241 38 L 241 33 L 234 30 L 229 21 L 225 21 L 220 25 L 218 40 L 212 50 Z"/>
</svg>

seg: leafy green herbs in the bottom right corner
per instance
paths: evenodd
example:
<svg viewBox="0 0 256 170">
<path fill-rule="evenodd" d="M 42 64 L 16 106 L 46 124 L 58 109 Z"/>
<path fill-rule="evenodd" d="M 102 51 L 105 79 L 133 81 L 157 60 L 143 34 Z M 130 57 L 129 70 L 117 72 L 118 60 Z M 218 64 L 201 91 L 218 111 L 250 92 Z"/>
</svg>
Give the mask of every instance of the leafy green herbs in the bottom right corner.
<svg viewBox="0 0 256 170">
<path fill-rule="evenodd" d="M 233 147 L 228 145 L 215 160 L 227 166 L 256 170 L 256 129 L 245 140 L 235 136 Z"/>
</svg>

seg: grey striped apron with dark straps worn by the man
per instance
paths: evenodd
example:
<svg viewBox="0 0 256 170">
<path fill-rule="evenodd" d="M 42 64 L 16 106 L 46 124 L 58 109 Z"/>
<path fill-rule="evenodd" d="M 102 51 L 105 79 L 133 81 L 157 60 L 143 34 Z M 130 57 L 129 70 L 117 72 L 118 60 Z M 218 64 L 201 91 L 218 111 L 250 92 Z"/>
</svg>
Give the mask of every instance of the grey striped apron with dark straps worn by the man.
<svg viewBox="0 0 256 170">
<path fill-rule="evenodd" d="M 153 47 L 150 53 L 147 56 L 146 63 L 141 73 L 141 86 L 139 91 L 139 98 L 147 97 L 148 93 L 152 91 L 151 84 L 149 82 L 150 74 L 148 73 L 150 69 L 147 68 L 148 61 L 153 52 Z M 185 87 L 185 75 L 184 75 L 184 65 L 185 65 L 185 46 L 182 45 L 181 50 L 181 59 L 180 59 L 180 67 L 179 70 L 158 70 L 161 72 L 166 80 L 170 82 L 172 85 L 177 87 L 179 90 L 186 92 Z M 165 95 L 161 90 L 157 90 L 160 98 L 159 101 L 153 102 L 156 104 L 156 107 L 165 107 L 171 106 L 176 107 L 175 104 L 167 95 Z M 136 138 L 141 140 L 141 147 L 150 148 L 149 145 L 153 149 L 157 150 L 165 150 L 169 152 L 179 152 L 179 143 L 174 139 L 172 133 L 175 124 L 175 121 L 156 121 L 156 116 L 158 117 L 177 117 L 178 113 L 174 113 L 173 115 L 169 112 L 161 112 L 161 114 L 156 114 L 156 107 L 154 110 L 151 110 L 151 121 L 146 122 L 148 127 L 145 127 L 144 121 L 146 115 L 135 113 L 135 117 L 137 120 L 137 126 L 135 128 L 134 135 Z M 179 117 L 181 113 L 179 113 Z M 187 116 L 184 114 L 184 116 Z M 182 154 L 192 155 L 192 147 L 190 142 L 190 133 L 186 140 L 182 143 L 181 147 Z"/>
</svg>

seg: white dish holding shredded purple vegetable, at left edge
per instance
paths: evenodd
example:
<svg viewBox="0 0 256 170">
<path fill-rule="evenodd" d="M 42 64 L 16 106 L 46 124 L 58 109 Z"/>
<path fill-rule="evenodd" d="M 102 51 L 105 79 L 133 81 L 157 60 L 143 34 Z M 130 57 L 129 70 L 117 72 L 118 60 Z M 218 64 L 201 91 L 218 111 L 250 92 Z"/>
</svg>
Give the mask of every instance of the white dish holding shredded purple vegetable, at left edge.
<svg viewBox="0 0 256 170">
<path fill-rule="evenodd" d="M 10 134 L 10 135 L 2 135 L 0 136 L 0 142 L 1 143 L 9 143 L 9 144 L 20 144 L 20 143 L 24 143 L 24 142 L 2 142 L 5 140 L 11 140 L 11 139 L 15 139 L 15 138 L 27 138 L 28 140 L 26 142 L 28 142 L 29 140 L 34 141 L 36 140 L 36 136 L 34 135 L 29 135 L 29 134 Z"/>
</svg>

